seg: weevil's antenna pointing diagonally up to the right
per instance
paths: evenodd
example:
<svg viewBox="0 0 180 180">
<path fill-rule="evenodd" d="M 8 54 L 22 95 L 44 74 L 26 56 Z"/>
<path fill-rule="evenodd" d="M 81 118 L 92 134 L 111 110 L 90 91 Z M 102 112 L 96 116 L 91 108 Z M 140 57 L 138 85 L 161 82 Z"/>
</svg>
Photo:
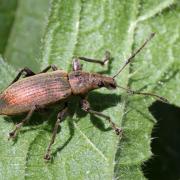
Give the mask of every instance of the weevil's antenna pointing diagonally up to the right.
<svg viewBox="0 0 180 180">
<path fill-rule="evenodd" d="M 141 45 L 139 49 L 137 49 L 125 62 L 124 66 L 113 76 L 113 79 L 118 76 L 121 71 L 130 63 L 132 62 L 133 58 L 146 46 L 146 44 L 154 37 L 155 33 L 151 33 L 149 38 Z"/>
</svg>

